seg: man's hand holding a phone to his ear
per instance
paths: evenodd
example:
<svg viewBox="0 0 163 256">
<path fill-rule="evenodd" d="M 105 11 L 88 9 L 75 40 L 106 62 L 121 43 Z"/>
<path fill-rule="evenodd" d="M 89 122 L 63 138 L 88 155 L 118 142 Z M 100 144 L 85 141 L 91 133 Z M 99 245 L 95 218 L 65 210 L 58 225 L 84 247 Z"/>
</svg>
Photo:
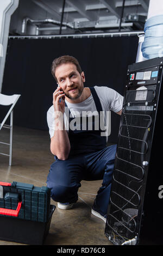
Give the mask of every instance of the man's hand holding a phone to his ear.
<svg viewBox="0 0 163 256">
<path fill-rule="evenodd" d="M 64 112 L 65 112 L 65 94 L 61 90 L 61 87 L 58 87 L 53 93 L 53 106 L 54 106 L 55 111 L 60 111 L 60 112 L 62 112 L 62 114 L 64 114 Z"/>
</svg>

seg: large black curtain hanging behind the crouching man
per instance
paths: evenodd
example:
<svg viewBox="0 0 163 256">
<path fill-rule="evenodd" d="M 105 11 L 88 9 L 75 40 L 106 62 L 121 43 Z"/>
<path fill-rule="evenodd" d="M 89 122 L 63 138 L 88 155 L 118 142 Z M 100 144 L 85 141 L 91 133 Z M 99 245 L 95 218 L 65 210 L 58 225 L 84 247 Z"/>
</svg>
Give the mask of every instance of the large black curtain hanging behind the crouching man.
<svg viewBox="0 0 163 256">
<path fill-rule="evenodd" d="M 79 60 L 85 87 L 108 86 L 123 95 L 127 67 L 135 62 L 138 41 L 137 36 L 9 39 L 2 93 L 21 94 L 14 125 L 48 130 L 46 113 L 57 88 L 51 64 L 64 54 Z M 110 142 L 117 142 L 119 122 L 120 117 L 111 113 Z"/>
</svg>

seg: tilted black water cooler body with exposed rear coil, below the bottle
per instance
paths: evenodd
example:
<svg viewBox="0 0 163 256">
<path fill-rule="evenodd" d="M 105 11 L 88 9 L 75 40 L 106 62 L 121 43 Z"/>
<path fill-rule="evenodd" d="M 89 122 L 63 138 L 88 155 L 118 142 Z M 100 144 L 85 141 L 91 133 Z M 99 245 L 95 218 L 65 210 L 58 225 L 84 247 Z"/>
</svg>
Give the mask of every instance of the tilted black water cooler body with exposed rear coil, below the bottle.
<svg viewBox="0 0 163 256">
<path fill-rule="evenodd" d="M 163 244 L 163 171 L 156 169 L 162 158 L 162 63 L 155 58 L 128 67 L 105 225 L 115 245 Z"/>
</svg>

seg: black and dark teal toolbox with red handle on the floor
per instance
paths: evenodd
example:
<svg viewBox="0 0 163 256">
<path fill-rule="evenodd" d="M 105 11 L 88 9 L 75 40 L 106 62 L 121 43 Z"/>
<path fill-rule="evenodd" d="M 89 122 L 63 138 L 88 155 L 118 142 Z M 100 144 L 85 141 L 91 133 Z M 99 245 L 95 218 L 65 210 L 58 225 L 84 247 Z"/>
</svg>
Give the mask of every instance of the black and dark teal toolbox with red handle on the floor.
<svg viewBox="0 0 163 256">
<path fill-rule="evenodd" d="M 43 245 L 55 205 L 49 188 L 0 182 L 0 240 Z"/>
</svg>

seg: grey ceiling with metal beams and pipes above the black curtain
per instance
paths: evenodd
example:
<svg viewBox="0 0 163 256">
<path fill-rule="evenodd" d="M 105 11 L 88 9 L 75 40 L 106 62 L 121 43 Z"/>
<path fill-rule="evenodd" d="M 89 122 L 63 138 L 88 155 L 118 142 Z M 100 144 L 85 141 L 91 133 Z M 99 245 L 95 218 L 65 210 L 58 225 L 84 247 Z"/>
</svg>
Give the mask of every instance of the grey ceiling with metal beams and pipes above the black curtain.
<svg viewBox="0 0 163 256">
<path fill-rule="evenodd" d="M 143 31 L 149 0 L 20 0 L 10 35 Z"/>
</svg>

